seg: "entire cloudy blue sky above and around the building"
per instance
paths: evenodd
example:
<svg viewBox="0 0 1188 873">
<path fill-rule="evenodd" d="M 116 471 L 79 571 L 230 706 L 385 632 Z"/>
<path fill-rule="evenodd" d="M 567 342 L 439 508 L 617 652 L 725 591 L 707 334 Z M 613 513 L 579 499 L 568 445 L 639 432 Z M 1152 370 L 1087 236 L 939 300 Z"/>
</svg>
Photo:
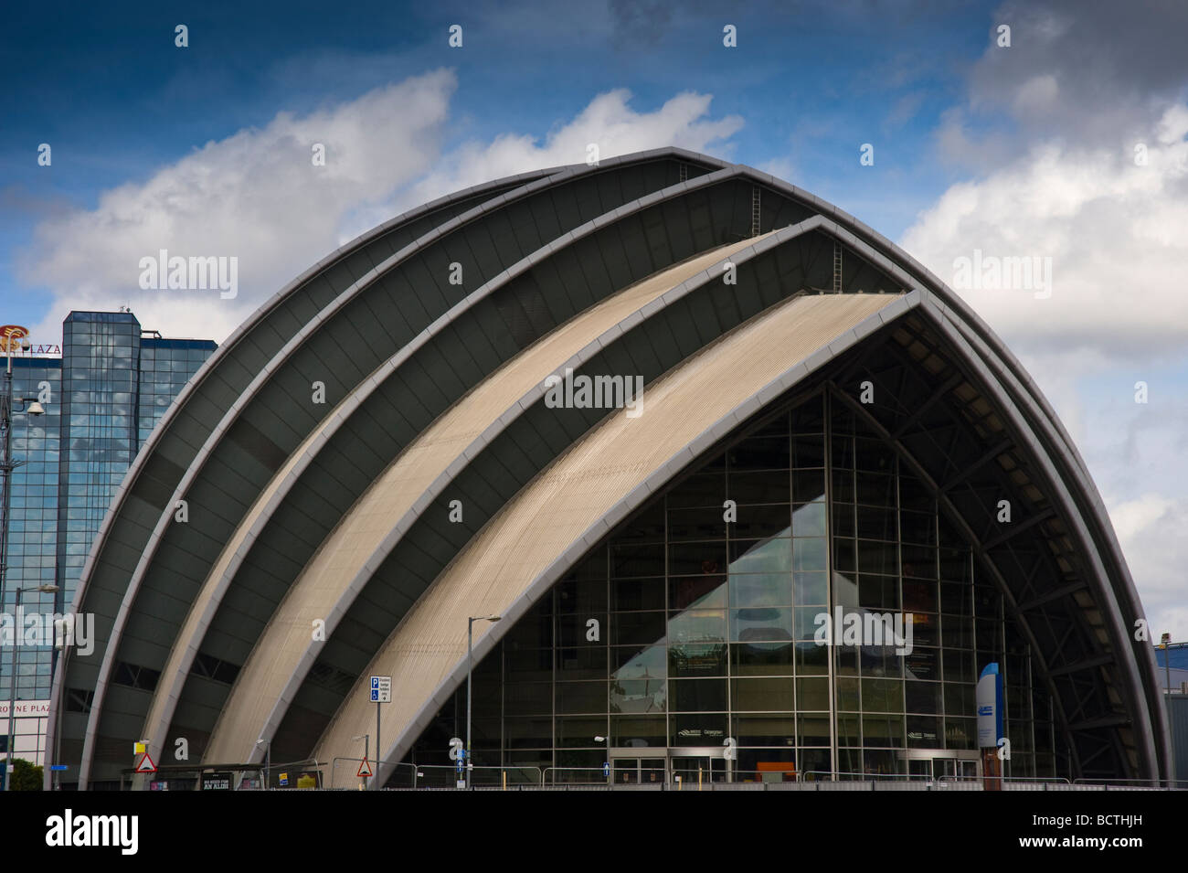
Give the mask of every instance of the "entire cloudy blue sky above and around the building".
<svg viewBox="0 0 1188 873">
<path fill-rule="evenodd" d="M 1050 299 L 962 293 L 1081 448 L 1152 620 L 1188 639 L 1186 8 L 15 6 L 0 33 L 0 322 L 56 342 L 70 309 L 129 304 L 166 335 L 222 340 L 430 196 L 581 162 L 590 139 L 693 147 L 836 203 L 950 283 L 974 249 L 1050 257 Z M 333 156 L 321 177 L 316 139 Z M 158 242 L 239 252 L 239 299 L 146 296 L 135 264 Z"/>
</svg>

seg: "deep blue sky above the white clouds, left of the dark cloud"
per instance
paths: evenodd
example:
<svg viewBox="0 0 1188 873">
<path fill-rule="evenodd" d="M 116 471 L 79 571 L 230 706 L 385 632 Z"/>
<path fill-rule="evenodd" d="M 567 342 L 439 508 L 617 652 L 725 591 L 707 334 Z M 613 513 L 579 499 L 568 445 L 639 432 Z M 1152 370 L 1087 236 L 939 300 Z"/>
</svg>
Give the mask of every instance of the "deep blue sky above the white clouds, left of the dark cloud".
<svg viewBox="0 0 1188 873">
<path fill-rule="evenodd" d="M 101 191 L 279 112 L 308 113 L 441 67 L 457 75 L 447 150 L 508 131 L 543 138 L 614 88 L 628 88 L 640 112 L 684 90 L 712 94 L 714 115 L 745 120 L 723 157 L 782 169 L 896 236 L 955 178 L 935 159 L 931 133 L 990 39 L 992 8 L 902 6 L 838 14 L 727 5 L 665 20 L 644 14 L 645 4 L 639 19 L 618 21 L 567 4 L 506 17 L 492 4 L 348 5 L 341 15 L 322 2 L 286 4 L 283 14 L 241 4 L 63 15 L 18 7 L 0 58 L 0 76 L 17 86 L 0 93 L 6 318 L 36 323 L 45 311 L 45 287 L 14 264 L 39 215 L 94 209 Z M 178 23 L 189 27 L 187 49 L 173 45 Z M 447 45 L 454 23 L 461 50 Z M 725 23 L 738 27 L 737 50 L 722 46 Z M 36 163 L 40 143 L 53 148 L 52 167 Z M 877 159 L 858 172 L 862 143 L 876 144 Z"/>
</svg>

